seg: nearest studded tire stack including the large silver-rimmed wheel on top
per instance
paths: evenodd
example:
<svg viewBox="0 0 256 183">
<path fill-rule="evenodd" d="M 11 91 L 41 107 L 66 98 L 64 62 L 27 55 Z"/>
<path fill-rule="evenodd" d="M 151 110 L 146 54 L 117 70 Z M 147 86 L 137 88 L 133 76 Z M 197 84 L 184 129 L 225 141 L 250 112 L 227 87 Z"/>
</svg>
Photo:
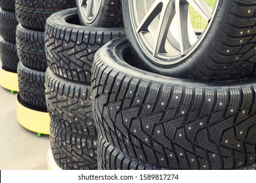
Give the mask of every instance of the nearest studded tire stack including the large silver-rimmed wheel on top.
<svg viewBox="0 0 256 183">
<path fill-rule="evenodd" d="M 255 1 L 122 3 L 92 69 L 98 168 L 255 169 Z"/>
</svg>

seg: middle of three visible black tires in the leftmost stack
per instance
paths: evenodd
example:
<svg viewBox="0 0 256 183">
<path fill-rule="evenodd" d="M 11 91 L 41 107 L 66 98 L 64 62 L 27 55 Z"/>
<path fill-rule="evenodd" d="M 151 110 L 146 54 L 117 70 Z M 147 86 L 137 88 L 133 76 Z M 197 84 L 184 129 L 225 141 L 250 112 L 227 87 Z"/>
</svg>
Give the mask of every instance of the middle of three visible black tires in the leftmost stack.
<svg viewBox="0 0 256 183">
<path fill-rule="evenodd" d="M 15 12 L 0 9 L 0 35 L 5 41 L 16 42 L 17 25 Z"/>
</svg>

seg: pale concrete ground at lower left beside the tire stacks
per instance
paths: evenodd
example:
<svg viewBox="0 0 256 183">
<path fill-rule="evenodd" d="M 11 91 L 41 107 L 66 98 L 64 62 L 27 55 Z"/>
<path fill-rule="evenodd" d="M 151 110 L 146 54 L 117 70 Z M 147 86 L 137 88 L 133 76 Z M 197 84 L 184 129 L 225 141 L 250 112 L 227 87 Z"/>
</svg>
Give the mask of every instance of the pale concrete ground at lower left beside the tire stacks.
<svg viewBox="0 0 256 183">
<path fill-rule="evenodd" d="M 49 135 L 37 137 L 18 123 L 16 93 L 0 86 L 0 169 L 45 170 L 49 147 Z"/>
</svg>

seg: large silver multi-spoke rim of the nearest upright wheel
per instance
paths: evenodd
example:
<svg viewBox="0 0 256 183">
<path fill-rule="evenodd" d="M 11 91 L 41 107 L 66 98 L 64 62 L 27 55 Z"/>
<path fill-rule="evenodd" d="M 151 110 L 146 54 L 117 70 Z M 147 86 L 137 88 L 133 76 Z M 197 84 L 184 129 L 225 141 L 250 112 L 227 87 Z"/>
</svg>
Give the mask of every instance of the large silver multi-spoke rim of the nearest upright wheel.
<svg viewBox="0 0 256 183">
<path fill-rule="evenodd" d="M 219 0 L 129 0 L 135 38 L 150 60 L 174 65 L 190 56 L 203 41 L 217 12 Z M 205 20 L 193 24 L 191 12 Z M 181 31 L 182 30 L 182 31 Z"/>
</svg>

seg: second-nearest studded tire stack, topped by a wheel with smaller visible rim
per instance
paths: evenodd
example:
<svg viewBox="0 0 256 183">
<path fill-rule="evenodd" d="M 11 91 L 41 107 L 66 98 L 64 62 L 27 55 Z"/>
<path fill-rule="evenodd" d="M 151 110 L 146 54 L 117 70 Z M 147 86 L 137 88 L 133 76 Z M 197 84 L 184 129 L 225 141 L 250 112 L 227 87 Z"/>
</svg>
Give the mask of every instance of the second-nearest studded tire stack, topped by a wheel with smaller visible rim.
<svg viewBox="0 0 256 183">
<path fill-rule="evenodd" d="M 121 28 L 119 0 L 88 3 L 91 5 L 77 0 L 78 9 L 56 12 L 47 20 L 45 49 L 49 69 L 45 93 L 51 116 L 50 169 L 98 169 L 91 67 L 95 52 L 106 42 L 124 36 L 125 31 Z"/>
</svg>

